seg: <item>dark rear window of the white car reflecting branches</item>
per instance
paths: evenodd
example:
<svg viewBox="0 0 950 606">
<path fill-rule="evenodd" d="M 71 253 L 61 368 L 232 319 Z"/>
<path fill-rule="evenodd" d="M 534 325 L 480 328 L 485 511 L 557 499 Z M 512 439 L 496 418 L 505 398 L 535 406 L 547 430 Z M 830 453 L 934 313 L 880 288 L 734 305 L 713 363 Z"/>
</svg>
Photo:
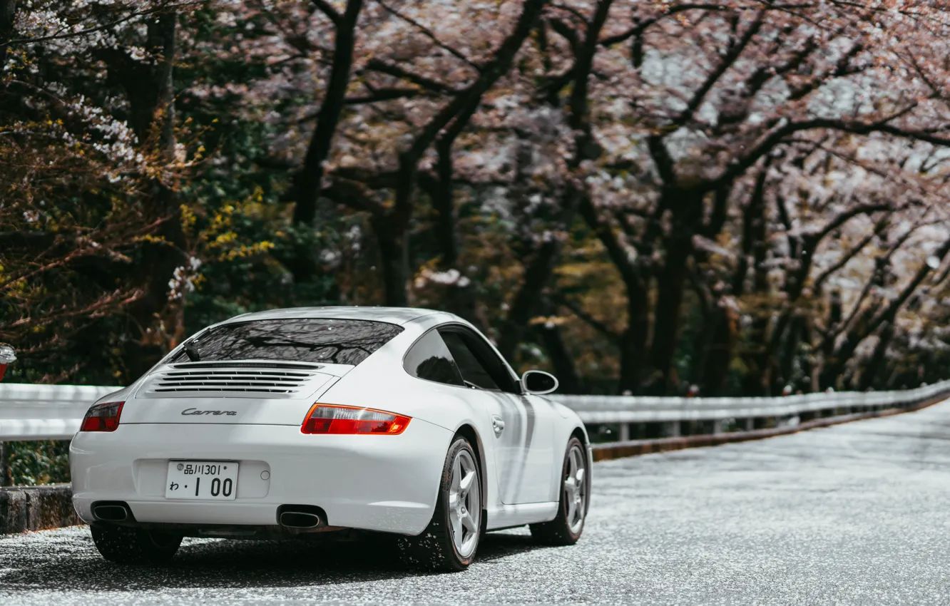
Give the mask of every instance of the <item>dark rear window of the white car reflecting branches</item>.
<svg viewBox="0 0 950 606">
<path fill-rule="evenodd" d="M 386 345 L 402 327 L 368 320 L 293 318 L 225 324 L 187 342 L 201 361 L 286 360 L 359 364 Z M 172 362 L 188 362 L 181 350 Z"/>
</svg>

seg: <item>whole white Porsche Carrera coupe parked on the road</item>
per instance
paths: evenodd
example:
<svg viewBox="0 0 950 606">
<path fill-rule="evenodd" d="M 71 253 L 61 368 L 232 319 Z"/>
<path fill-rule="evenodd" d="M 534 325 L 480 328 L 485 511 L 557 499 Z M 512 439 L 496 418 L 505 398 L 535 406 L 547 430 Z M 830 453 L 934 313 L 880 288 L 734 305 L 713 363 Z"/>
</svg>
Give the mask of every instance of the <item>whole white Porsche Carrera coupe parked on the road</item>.
<svg viewBox="0 0 950 606">
<path fill-rule="evenodd" d="M 399 308 L 239 315 L 85 414 L 73 503 L 105 559 L 161 561 L 181 538 L 398 536 L 426 568 L 464 570 L 485 531 L 580 538 L 591 451 L 462 318 Z"/>
</svg>

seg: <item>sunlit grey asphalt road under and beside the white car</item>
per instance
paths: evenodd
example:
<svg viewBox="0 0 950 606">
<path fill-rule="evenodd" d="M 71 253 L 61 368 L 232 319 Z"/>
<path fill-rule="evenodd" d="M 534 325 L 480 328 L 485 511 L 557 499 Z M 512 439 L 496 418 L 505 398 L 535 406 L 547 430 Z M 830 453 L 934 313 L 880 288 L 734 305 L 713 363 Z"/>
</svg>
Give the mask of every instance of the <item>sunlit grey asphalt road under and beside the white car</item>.
<svg viewBox="0 0 950 606">
<path fill-rule="evenodd" d="M 365 544 L 185 540 L 100 559 L 85 527 L 0 538 L 0 604 L 950 604 L 950 403 L 599 463 L 574 547 L 490 534 L 454 575 Z"/>
</svg>

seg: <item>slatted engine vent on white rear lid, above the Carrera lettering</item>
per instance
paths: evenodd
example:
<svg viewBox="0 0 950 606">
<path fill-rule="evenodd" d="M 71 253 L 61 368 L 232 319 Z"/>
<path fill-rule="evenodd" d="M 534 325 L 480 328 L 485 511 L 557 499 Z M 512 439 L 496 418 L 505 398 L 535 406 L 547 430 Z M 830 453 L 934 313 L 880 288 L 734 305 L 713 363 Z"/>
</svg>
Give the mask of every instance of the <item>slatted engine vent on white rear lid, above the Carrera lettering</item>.
<svg viewBox="0 0 950 606">
<path fill-rule="evenodd" d="M 249 368 L 250 367 L 250 368 Z M 203 393 L 206 395 L 266 395 L 267 397 L 293 397 L 316 374 L 314 371 L 288 365 L 267 368 L 261 365 L 230 365 L 230 368 L 195 368 L 189 366 L 162 372 L 151 381 L 147 394 L 152 397 L 175 397 L 180 394 Z M 319 368 L 319 367 L 303 367 Z"/>
</svg>

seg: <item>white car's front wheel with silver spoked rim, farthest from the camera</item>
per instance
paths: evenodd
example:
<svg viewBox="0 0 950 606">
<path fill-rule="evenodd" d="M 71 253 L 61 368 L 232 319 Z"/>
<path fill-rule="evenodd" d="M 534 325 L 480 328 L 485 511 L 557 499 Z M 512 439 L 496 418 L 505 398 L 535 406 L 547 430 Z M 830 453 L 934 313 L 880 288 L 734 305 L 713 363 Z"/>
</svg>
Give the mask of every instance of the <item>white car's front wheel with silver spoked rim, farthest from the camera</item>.
<svg viewBox="0 0 950 606">
<path fill-rule="evenodd" d="M 542 545 L 573 545 L 578 542 L 587 519 L 590 485 L 587 450 L 577 437 L 572 436 L 564 452 L 558 517 L 531 524 L 531 537 Z"/>
</svg>

